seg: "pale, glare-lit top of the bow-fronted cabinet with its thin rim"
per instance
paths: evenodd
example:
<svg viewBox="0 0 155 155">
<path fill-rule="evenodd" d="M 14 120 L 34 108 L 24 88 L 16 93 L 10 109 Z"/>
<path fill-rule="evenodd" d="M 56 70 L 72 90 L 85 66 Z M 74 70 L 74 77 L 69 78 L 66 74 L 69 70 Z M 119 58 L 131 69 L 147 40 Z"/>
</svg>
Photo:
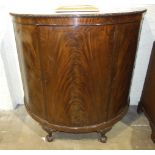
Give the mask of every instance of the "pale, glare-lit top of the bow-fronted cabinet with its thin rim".
<svg viewBox="0 0 155 155">
<path fill-rule="evenodd" d="M 11 11 L 10 15 L 17 17 L 101 17 L 101 16 L 116 16 L 116 15 L 128 15 L 136 13 L 146 12 L 145 8 L 124 8 L 124 9 L 105 9 L 105 10 L 86 10 L 86 11 L 60 11 L 56 10 L 44 10 L 44 11 Z"/>
</svg>

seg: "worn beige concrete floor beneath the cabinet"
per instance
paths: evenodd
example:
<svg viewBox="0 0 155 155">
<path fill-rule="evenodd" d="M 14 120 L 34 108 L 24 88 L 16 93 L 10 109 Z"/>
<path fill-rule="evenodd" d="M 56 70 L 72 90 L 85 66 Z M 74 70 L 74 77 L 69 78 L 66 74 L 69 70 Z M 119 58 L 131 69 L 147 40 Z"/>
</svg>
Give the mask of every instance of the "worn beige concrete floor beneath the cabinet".
<svg viewBox="0 0 155 155">
<path fill-rule="evenodd" d="M 107 133 L 107 143 L 97 133 L 56 132 L 55 140 L 45 141 L 46 132 L 26 112 L 24 106 L 0 112 L 0 149 L 155 149 L 146 117 L 130 107 L 128 114 Z"/>
</svg>

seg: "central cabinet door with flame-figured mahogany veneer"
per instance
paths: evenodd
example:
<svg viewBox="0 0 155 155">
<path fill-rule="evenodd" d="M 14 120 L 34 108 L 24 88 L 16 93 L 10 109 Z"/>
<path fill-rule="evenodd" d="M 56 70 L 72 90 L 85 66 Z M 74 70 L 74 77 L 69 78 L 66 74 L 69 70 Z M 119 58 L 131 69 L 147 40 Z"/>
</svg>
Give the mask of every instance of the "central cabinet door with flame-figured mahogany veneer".
<svg viewBox="0 0 155 155">
<path fill-rule="evenodd" d="M 114 26 L 39 26 L 47 120 L 66 126 L 106 121 Z"/>
</svg>

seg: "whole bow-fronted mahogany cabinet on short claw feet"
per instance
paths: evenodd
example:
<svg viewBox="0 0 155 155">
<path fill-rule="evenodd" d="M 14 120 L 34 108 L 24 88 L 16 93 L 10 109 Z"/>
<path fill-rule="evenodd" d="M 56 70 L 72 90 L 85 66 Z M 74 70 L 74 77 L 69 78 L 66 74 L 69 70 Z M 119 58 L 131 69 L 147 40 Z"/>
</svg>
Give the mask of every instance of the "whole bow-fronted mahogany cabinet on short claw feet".
<svg viewBox="0 0 155 155">
<path fill-rule="evenodd" d="M 11 13 L 28 113 L 55 131 L 105 133 L 127 112 L 146 10 Z"/>
</svg>

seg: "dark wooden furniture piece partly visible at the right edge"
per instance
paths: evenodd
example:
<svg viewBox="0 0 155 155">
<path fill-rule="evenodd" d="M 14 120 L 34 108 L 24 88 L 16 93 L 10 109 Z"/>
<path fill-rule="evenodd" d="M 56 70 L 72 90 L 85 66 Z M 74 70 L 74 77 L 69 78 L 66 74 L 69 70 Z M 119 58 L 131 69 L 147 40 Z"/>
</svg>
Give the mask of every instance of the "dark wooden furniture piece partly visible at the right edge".
<svg viewBox="0 0 155 155">
<path fill-rule="evenodd" d="M 144 111 L 150 121 L 152 128 L 151 138 L 155 142 L 155 42 L 153 43 L 138 112 L 141 110 Z"/>
</svg>

